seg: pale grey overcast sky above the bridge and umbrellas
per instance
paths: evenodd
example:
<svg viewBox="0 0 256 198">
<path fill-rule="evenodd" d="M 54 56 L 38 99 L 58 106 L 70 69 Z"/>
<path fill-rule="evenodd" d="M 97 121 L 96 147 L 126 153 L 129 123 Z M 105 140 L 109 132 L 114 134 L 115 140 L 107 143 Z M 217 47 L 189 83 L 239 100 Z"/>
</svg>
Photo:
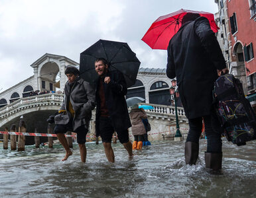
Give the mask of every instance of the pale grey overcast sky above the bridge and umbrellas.
<svg viewBox="0 0 256 198">
<path fill-rule="evenodd" d="M 44 53 L 79 63 L 99 39 L 127 42 L 141 67 L 166 67 L 166 50 L 141 41 L 162 15 L 190 9 L 216 13 L 214 0 L 0 0 L 0 92 L 31 77 Z"/>
</svg>

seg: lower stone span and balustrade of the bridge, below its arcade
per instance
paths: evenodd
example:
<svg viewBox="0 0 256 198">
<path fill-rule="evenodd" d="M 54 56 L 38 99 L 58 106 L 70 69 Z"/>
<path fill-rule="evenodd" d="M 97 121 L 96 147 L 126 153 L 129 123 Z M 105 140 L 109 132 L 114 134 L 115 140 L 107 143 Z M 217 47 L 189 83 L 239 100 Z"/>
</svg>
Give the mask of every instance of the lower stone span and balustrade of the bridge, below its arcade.
<svg viewBox="0 0 256 198">
<path fill-rule="evenodd" d="M 12 124 L 19 125 L 21 116 L 27 123 L 27 132 L 33 133 L 35 128 L 37 133 L 46 133 L 48 123 L 46 119 L 53 115 L 62 104 L 63 94 L 42 94 L 21 98 L 15 102 L 0 108 L 0 130 L 5 127 L 10 129 Z M 149 140 L 162 139 L 162 135 L 172 135 L 176 133 L 176 119 L 174 106 L 164 106 L 149 104 L 154 107 L 153 110 L 146 110 L 151 131 L 149 131 Z M 188 132 L 188 119 L 184 114 L 183 108 L 178 108 L 178 119 L 180 123 L 180 132 L 184 135 Z M 95 110 L 93 111 L 92 121 L 95 120 Z M 90 127 L 91 133 L 94 133 Z M 131 129 L 130 129 L 131 130 Z M 131 133 L 131 131 L 130 131 Z"/>
</svg>

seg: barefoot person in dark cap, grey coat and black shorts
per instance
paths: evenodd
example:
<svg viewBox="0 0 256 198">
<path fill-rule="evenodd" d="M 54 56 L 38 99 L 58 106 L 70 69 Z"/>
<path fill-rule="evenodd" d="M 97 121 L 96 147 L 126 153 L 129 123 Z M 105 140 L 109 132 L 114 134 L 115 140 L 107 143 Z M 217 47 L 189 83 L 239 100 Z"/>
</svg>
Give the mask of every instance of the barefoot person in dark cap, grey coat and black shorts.
<svg viewBox="0 0 256 198">
<path fill-rule="evenodd" d="M 60 114 L 54 117 L 56 124 L 54 133 L 57 134 L 58 140 L 66 150 L 66 156 L 62 161 L 72 155 L 64 133 L 74 131 L 77 134 L 81 161 L 86 162 L 86 134 L 92 110 L 96 106 L 95 92 L 89 82 L 80 79 L 79 70 L 76 67 L 67 67 L 65 75 L 68 77 L 68 82 L 65 84 L 65 96 L 59 110 Z"/>
</svg>

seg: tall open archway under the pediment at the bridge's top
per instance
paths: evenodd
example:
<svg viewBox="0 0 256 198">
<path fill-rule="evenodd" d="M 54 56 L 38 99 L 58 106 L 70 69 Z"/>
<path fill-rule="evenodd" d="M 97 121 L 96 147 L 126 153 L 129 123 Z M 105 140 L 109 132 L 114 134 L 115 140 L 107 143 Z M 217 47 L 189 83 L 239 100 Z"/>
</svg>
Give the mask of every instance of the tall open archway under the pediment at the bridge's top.
<svg viewBox="0 0 256 198">
<path fill-rule="evenodd" d="M 58 88 L 59 76 L 59 67 L 55 62 L 49 61 L 45 63 L 40 69 L 40 92 L 55 92 L 56 88 Z"/>
</svg>

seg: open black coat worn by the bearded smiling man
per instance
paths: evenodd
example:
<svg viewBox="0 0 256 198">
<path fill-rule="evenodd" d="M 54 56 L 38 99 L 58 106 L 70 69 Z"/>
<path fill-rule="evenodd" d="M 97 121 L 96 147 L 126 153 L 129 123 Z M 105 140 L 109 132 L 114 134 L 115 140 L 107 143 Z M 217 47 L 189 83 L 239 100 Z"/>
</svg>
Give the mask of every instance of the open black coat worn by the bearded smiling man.
<svg viewBox="0 0 256 198">
<path fill-rule="evenodd" d="M 110 82 L 103 82 L 105 93 L 105 102 L 109 116 L 115 131 L 123 131 L 131 127 L 131 121 L 128 114 L 128 108 L 125 100 L 127 94 L 127 85 L 123 74 L 119 71 L 109 71 L 106 75 L 110 77 Z M 96 84 L 96 136 L 99 136 L 99 117 L 100 117 L 100 98 L 98 94 L 100 77 Z"/>
</svg>

